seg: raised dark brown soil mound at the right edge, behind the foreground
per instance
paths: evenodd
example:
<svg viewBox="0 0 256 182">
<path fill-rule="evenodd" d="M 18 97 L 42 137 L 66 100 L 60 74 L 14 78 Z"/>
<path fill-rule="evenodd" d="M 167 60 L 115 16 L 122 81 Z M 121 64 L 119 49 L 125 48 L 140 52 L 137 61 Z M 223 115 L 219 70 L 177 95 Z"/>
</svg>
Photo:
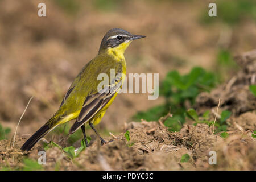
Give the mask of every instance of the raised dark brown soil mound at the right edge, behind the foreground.
<svg viewBox="0 0 256 182">
<path fill-rule="evenodd" d="M 256 98 L 249 86 L 256 83 L 256 51 L 243 53 L 236 56 L 235 60 L 241 68 L 235 76 L 212 92 L 201 93 L 196 98 L 196 107 L 200 112 L 216 107 L 219 98 L 222 109 L 230 110 L 234 115 L 255 110 Z"/>
</svg>

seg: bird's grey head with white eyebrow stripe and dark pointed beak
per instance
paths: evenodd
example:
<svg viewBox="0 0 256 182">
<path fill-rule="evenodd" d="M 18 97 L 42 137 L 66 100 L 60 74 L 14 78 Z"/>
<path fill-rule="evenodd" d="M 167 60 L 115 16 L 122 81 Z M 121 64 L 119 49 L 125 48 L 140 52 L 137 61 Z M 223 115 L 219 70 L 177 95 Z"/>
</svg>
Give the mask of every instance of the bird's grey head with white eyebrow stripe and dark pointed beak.
<svg viewBox="0 0 256 182">
<path fill-rule="evenodd" d="M 124 42 L 130 42 L 131 40 L 141 39 L 144 37 L 145 36 L 143 35 L 133 35 L 121 28 L 113 28 L 106 32 L 104 38 L 102 39 L 99 53 L 108 48 L 117 47 Z"/>
</svg>

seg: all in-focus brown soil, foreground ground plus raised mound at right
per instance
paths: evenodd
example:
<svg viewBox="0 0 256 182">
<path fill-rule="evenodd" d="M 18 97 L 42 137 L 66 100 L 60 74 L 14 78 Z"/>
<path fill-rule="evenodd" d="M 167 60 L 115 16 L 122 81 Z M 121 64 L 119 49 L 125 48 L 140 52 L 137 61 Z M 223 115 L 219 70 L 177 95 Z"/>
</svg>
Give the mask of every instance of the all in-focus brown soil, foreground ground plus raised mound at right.
<svg viewBox="0 0 256 182">
<path fill-rule="evenodd" d="M 204 123 L 197 123 L 196 126 L 185 124 L 179 132 L 170 133 L 163 125 L 163 119 L 166 117 L 157 122 L 130 122 L 123 126 L 123 131 L 130 132 L 129 142 L 124 133 L 119 133 L 115 138 L 113 136 L 106 138 L 109 142 L 104 146 L 100 146 L 100 142 L 94 139 L 90 147 L 75 159 L 69 158 L 59 148 L 51 148 L 46 151 L 46 165 L 43 168 L 46 170 L 256 170 L 256 139 L 251 136 L 256 130 L 256 110 L 253 107 L 255 97 L 246 88 L 255 81 L 253 75 L 256 69 L 252 68 L 256 59 L 256 56 L 252 56 L 254 53 L 255 51 L 252 51 L 242 55 L 250 56 L 245 56 L 245 64 L 241 65 L 243 69 L 235 76 L 235 81 L 232 81 L 233 77 L 226 84 L 220 85 L 210 93 L 202 93 L 197 98 L 199 112 L 204 111 L 205 107 L 216 109 L 217 102 L 213 101 L 220 96 L 222 96 L 220 110 L 234 111 L 227 120 L 228 138 L 220 137 L 221 133 L 213 134 L 213 128 Z M 238 92 L 243 96 L 238 98 Z M 204 100 L 201 99 L 203 96 Z M 243 109 L 238 109 L 240 106 Z M 213 112 L 211 117 L 214 116 Z M 15 147 L 12 147 L 12 140 L 0 141 L 0 166 L 22 167 L 23 156 L 38 159 L 38 151 L 43 150 L 42 143 L 39 142 L 30 152 L 23 154 L 19 148 L 25 140 L 26 138 L 16 137 Z M 64 141 L 63 146 L 65 145 L 67 143 L 65 144 Z M 216 165 L 209 164 L 209 151 L 216 152 Z M 188 154 L 190 159 L 187 162 L 180 162 L 184 154 Z"/>
</svg>

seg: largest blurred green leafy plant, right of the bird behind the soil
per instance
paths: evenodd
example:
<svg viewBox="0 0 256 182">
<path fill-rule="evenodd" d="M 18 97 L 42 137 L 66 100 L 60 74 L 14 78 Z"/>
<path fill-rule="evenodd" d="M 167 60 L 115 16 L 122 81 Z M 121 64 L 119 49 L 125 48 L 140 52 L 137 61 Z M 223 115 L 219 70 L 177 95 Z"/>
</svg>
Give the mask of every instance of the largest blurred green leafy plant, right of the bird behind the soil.
<svg viewBox="0 0 256 182">
<path fill-rule="evenodd" d="M 177 71 L 171 71 L 166 75 L 159 88 L 160 96 L 163 96 L 166 103 L 152 107 L 147 111 L 141 111 L 134 115 L 135 121 L 158 121 L 163 115 L 167 115 L 170 108 L 173 117 L 168 118 L 164 125 L 170 131 L 179 131 L 182 123 L 185 122 L 186 105 L 193 105 L 195 98 L 200 92 L 209 92 L 216 84 L 216 77 L 213 73 L 203 68 L 195 67 L 186 75 L 180 75 Z"/>
</svg>

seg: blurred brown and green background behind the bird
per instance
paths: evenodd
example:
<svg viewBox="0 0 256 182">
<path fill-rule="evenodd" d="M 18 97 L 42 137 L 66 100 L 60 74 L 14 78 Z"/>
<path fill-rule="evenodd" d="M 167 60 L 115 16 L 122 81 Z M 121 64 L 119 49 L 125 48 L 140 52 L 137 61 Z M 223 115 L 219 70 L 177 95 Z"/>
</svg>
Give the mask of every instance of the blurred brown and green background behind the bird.
<svg viewBox="0 0 256 182">
<path fill-rule="evenodd" d="M 46 17 L 38 16 L 40 2 L 46 3 Z M 1 0 L 1 125 L 13 134 L 34 96 L 18 134 L 32 134 L 42 126 L 58 109 L 73 78 L 96 56 L 111 28 L 147 36 L 126 50 L 127 73 L 159 73 L 163 87 L 167 73 L 176 70 L 185 75 L 200 67 L 214 77 L 205 84 L 208 88 L 225 81 L 238 69 L 233 56 L 256 47 L 256 2 L 214 1 L 217 17 L 212 18 L 210 2 Z M 158 100 L 148 100 L 147 94 L 119 94 L 100 123 L 101 134 L 117 133 L 123 123 L 139 120 L 144 111 L 166 103 L 168 93 L 163 92 Z M 189 108 L 193 100 L 186 101 L 182 105 Z M 148 120 L 160 116 L 154 114 Z"/>
</svg>

